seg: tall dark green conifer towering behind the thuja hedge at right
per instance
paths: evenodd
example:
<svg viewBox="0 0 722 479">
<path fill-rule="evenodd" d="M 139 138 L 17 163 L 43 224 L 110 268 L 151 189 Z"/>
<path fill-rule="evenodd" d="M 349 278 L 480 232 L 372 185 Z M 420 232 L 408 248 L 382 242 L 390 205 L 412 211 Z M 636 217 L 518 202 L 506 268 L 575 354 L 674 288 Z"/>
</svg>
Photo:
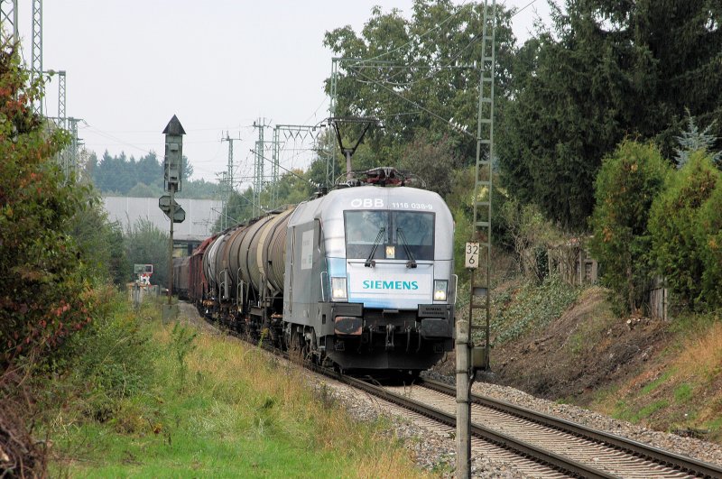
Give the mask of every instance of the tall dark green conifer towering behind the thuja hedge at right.
<svg viewBox="0 0 722 479">
<path fill-rule="evenodd" d="M 568 0 L 552 18 L 553 32 L 519 51 L 497 145 L 504 184 L 579 230 L 601 159 L 625 135 L 669 157 L 685 107 L 706 122 L 722 115 L 722 6 Z"/>
</svg>

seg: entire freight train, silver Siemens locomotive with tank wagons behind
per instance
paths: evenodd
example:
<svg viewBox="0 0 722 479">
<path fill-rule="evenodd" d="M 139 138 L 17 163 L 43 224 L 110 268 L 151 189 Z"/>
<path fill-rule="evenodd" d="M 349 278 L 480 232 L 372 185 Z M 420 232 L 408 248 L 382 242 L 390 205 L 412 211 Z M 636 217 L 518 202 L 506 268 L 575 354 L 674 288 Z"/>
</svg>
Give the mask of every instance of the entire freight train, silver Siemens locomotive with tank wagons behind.
<svg viewBox="0 0 722 479">
<path fill-rule="evenodd" d="M 436 193 L 335 189 L 208 238 L 185 263 L 188 291 L 319 364 L 419 373 L 453 348 L 453 230 Z"/>
</svg>

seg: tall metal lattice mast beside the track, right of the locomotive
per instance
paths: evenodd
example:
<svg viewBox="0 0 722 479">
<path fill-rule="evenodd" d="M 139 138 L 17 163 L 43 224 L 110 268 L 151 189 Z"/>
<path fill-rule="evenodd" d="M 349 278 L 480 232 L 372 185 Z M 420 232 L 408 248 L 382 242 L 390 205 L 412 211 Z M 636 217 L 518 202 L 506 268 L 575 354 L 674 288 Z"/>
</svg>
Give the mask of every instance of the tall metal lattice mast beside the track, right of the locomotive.
<svg viewBox="0 0 722 479">
<path fill-rule="evenodd" d="M 472 291 L 484 291 L 483 303 L 472 295 L 469 307 L 486 309 L 486 369 L 489 368 L 489 323 L 491 321 L 491 231 L 492 162 L 494 159 L 494 79 L 495 79 L 496 0 L 484 2 L 479 103 L 477 116 L 477 168 L 474 183 L 474 228 L 479 244 L 478 276 L 472 274 Z M 476 281 L 476 283 L 475 283 Z M 471 311 L 469 312 L 471 316 Z"/>
</svg>

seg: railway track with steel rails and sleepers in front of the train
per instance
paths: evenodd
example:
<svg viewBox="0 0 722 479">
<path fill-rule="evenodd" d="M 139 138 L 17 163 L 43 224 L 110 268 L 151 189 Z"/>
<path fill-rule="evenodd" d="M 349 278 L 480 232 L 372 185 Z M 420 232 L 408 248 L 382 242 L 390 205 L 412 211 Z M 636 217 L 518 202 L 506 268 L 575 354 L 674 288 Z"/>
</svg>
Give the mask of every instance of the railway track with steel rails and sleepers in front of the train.
<svg viewBox="0 0 722 479">
<path fill-rule="evenodd" d="M 235 336 L 245 339 L 245 336 Z M 258 345 L 255 341 L 249 341 Z M 288 357 L 268 346 L 274 354 Z M 456 390 L 442 382 L 383 385 L 327 368 L 310 369 L 435 421 L 453 435 Z M 587 428 L 514 404 L 472 394 L 472 456 L 494 456 L 533 477 L 722 478 L 722 468 Z"/>
</svg>

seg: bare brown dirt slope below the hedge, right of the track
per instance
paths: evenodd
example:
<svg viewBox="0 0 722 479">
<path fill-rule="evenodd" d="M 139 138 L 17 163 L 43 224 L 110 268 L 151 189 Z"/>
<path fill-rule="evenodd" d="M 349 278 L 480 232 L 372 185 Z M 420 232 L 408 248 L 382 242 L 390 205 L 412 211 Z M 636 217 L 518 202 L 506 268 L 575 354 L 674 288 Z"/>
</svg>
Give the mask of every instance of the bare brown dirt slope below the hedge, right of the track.
<svg viewBox="0 0 722 479">
<path fill-rule="evenodd" d="M 549 327 L 492 351 L 492 382 L 551 400 L 585 403 L 591 393 L 625 382 L 667 345 L 665 324 L 615 318 L 605 290 L 585 290 Z"/>
</svg>

